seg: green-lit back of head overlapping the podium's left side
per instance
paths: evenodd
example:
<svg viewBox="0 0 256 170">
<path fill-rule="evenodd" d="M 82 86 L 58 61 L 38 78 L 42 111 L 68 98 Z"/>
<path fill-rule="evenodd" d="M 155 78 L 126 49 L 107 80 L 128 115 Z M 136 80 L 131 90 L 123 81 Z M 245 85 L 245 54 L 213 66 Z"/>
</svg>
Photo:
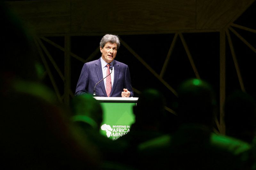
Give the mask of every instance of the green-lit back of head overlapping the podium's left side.
<svg viewBox="0 0 256 170">
<path fill-rule="evenodd" d="M 84 122 L 92 128 L 100 129 L 102 122 L 102 108 L 98 100 L 91 94 L 75 96 L 71 103 L 74 122 Z"/>
</svg>

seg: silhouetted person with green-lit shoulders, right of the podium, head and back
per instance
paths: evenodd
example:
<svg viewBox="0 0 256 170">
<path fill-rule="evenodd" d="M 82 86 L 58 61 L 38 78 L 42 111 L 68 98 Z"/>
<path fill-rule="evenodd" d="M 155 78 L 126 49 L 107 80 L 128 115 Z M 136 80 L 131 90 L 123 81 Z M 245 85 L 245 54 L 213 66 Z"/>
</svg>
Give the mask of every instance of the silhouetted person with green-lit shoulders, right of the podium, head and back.
<svg viewBox="0 0 256 170">
<path fill-rule="evenodd" d="M 180 127 L 139 145 L 140 167 L 172 169 L 250 169 L 251 146 L 212 133 L 215 98 L 207 82 L 188 79 L 178 89 Z"/>
</svg>

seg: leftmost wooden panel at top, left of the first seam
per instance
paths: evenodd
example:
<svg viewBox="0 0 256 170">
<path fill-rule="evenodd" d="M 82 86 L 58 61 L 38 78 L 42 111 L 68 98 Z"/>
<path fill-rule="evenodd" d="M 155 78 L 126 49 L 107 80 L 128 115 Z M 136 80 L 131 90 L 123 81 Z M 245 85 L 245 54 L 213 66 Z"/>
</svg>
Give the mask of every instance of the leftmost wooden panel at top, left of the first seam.
<svg viewBox="0 0 256 170">
<path fill-rule="evenodd" d="M 70 1 L 9 1 L 12 9 L 37 34 L 70 33 Z"/>
</svg>

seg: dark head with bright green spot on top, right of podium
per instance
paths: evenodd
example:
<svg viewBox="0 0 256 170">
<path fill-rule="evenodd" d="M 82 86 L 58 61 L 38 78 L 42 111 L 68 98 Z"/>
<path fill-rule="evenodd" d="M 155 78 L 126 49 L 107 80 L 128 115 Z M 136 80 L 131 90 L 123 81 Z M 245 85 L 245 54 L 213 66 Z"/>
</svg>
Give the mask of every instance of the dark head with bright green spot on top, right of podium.
<svg viewBox="0 0 256 170">
<path fill-rule="evenodd" d="M 200 79 L 188 79 L 180 84 L 178 95 L 181 122 L 212 125 L 216 102 L 211 85 Z"/>
</svg>

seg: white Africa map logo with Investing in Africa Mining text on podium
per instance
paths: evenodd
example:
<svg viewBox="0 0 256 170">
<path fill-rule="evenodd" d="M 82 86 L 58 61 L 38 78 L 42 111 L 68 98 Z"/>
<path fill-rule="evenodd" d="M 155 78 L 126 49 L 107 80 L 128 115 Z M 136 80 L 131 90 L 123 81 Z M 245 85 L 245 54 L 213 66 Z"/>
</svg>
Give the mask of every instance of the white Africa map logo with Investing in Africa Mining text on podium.
<svg viewBox="0 0 256 170">
<path fill-rule="evenodd" d="M 112 138 L 112 140 L 116 140 L 121 136 L 126 135 L 130 131 L 130 126 L 128 125 L 113 125 L 112 127 L 107 124 L 103 124 L 100 127 L 101 130 L 106 131 L 106 136 L 108 138 Z"/>
</svg>

